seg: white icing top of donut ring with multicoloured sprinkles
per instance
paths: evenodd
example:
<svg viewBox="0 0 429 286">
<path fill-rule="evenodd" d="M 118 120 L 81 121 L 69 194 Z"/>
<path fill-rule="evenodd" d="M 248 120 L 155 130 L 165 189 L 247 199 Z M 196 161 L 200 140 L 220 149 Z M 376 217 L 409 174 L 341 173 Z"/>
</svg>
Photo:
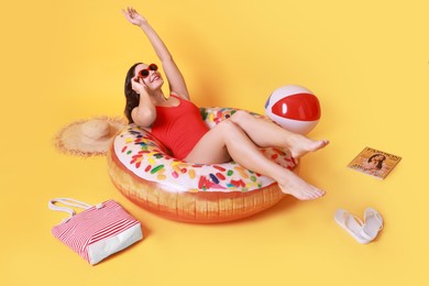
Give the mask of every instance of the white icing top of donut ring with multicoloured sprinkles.
<svg viewBox="0 0 429 286">
<path fill-rule="evenodd" d="M 201 108 L 209 128 L 231 117 L 232 108 Z M 253 113 L 256 117 L 261 117 Z M 224 164 L 193 164 L 168 155 L 163 144 L 150 132 L 135 124 L 128 125 L 116 136 L 113 151 L 119 161 L 134 175 L 158 183 L 169 191 L 252 191 L 274 184 L 266 176 L 243 168 L 235 162 Z M 292 169 L 296 162 L 284 148 L 261 148 L 277 164 Z"/>
</svg>

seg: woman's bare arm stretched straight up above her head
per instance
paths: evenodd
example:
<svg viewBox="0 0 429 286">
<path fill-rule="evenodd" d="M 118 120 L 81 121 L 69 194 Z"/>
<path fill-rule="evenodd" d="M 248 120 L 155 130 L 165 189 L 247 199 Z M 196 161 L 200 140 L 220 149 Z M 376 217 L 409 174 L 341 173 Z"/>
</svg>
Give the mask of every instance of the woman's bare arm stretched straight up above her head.
<svg viewBox="0 0 429 286">
<path fill-rule="evenodd" d="M 128 8 L 127 11 L 122 10 L 122 12 L 130 23 L 140 26 L 146 34 L 148 41 L 155 50 L 156 55 L 161 59 L 170 91 L 189 100 L 189 92 L 186 87 L 185 79 L 176 63 L 174 62 L 172 54 L 161 37 L 156 34 L 155 30 L 148 24 L 144 16 L 135 11 L 134 8 Z"/>
</svg>

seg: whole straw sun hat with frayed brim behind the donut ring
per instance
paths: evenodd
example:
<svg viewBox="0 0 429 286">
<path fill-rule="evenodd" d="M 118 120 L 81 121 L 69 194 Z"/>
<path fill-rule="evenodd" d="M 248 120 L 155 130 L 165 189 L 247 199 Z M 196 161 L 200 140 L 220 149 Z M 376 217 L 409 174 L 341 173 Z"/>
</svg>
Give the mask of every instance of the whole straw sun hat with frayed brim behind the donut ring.
<svg viewBox="0 0 429 286">
<path fill-rule="evenodd" d="M 62 153 L 80 156 L 106 155 L 113 138 L 127 125 L 123 119 L 94 118 L 63 128 L 54 138 Z"/>
</svg>

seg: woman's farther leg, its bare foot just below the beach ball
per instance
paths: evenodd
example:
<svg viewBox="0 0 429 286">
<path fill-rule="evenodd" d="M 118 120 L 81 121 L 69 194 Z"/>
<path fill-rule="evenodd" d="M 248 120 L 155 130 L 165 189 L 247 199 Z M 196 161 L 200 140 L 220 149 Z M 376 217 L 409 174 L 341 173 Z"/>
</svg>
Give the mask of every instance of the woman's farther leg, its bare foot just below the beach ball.
<svg viewBox="0 0 429 286">
<path fill-rule="evenodd" d="M 329 143 L 326 140 L 311 140 L 287 131 L 272 121 L 256 118 L 244 110 L 237 111 L 230 120 L 238 124 L 256 145 L 261 147 L 286 147 L 295 158 L 322 148 Z"/>
</svg>

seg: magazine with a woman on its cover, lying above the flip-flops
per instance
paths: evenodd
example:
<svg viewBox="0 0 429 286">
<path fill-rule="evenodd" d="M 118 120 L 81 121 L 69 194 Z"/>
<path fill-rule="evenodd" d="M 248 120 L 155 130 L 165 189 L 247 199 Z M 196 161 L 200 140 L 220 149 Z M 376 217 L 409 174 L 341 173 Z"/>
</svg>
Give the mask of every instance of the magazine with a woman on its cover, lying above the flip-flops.
<svg viewBox="0 0 429 286">
<path fill-rule="evenodd" d="M 372 147 L 365 147 L 349 163 L 348 167 L 384 179 L 400 160 L 402 157 Z"/>
</svg>

